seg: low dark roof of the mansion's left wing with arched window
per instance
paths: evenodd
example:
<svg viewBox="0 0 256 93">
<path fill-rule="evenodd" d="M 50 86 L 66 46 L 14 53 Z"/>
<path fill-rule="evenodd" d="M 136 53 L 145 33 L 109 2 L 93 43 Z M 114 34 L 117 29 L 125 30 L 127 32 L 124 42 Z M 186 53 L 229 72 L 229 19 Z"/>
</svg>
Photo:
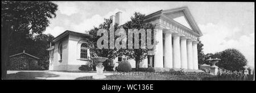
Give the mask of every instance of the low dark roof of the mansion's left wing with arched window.
<svg viewBox="0 0 256 93">
<path fill-rule="evenodd" d="M 85 33 L 79 33 L 79 32 L 73 32 L 73 31 L 65 31 L 63 33 L 61 33 L 59 36 L 55 37 L 52 42 L 55 43 L 56 41 L 62 39 L 63 37 L 65 36 L 68 36 L 68 35 L 76 35 L 76 36 L 86 36 L 86 37 L 90 37 L 92 35 L 88 35 L 88 34 L 85 34 Z"/>
</svg>

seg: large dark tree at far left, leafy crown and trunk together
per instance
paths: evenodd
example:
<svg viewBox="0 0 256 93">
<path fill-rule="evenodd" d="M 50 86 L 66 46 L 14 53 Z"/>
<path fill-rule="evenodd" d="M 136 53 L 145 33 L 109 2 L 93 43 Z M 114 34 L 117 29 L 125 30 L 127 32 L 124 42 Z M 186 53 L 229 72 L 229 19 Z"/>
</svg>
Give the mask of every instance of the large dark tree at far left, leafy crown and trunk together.
<svg viewBox="0 0 256 93">
<path fill-rule="evenodd" d="M 42 34 L 55 18 L 57 5 L 50 1 L 2 1 L 2 78 L 6 78 L 10 36 L 16 32 Z M 28 33 L 29 32 L 29 33 Z"/>
</svg>

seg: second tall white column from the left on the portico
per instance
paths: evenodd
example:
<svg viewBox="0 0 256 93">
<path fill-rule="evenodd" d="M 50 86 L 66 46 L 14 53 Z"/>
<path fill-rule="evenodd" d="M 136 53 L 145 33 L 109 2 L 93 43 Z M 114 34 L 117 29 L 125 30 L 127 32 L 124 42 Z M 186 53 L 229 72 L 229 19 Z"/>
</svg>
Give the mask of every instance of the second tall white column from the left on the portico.
<svg viewBox="0 0 256 93">
<path fill-rule="evenodd" d="M 164 68 L 172 68 L 172 33 L 164 33 Z"/>
</svg>

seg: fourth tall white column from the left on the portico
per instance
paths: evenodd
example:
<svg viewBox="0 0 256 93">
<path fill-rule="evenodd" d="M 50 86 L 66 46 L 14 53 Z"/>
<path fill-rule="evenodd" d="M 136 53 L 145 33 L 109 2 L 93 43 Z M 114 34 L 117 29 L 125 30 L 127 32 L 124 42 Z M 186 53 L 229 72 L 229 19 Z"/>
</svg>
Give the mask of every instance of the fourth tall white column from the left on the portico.
<svg viewBox="0 0 256 93">
<path fill-rule="evenodd" d="M 188 69 L 187 62 L 187 37 L 180 37 L 180 56 L 181 56 L 181 68 Z"/>
</svg>

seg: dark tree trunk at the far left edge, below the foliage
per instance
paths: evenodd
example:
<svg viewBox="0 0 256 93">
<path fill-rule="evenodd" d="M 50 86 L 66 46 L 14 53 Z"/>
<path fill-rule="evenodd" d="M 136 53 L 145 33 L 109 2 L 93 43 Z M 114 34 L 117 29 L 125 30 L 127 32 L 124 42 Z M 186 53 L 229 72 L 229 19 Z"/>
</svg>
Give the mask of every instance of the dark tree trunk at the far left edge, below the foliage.
<svg viewBox="0 0 256 93">
<path fill-rule="evenodd" d="M 1 28 L 2 30 L 2 41 L 1 41 L 1 50 L 2 50 L 2 61 L 1 61 L 1 67 L 2 67 L 2 79 L 6 79 L 7 75 L 7 63 L 9 60 L 9 32 L 10 32 L 10 23 L 3 22 L 3 26 Z"/>
</svg>

